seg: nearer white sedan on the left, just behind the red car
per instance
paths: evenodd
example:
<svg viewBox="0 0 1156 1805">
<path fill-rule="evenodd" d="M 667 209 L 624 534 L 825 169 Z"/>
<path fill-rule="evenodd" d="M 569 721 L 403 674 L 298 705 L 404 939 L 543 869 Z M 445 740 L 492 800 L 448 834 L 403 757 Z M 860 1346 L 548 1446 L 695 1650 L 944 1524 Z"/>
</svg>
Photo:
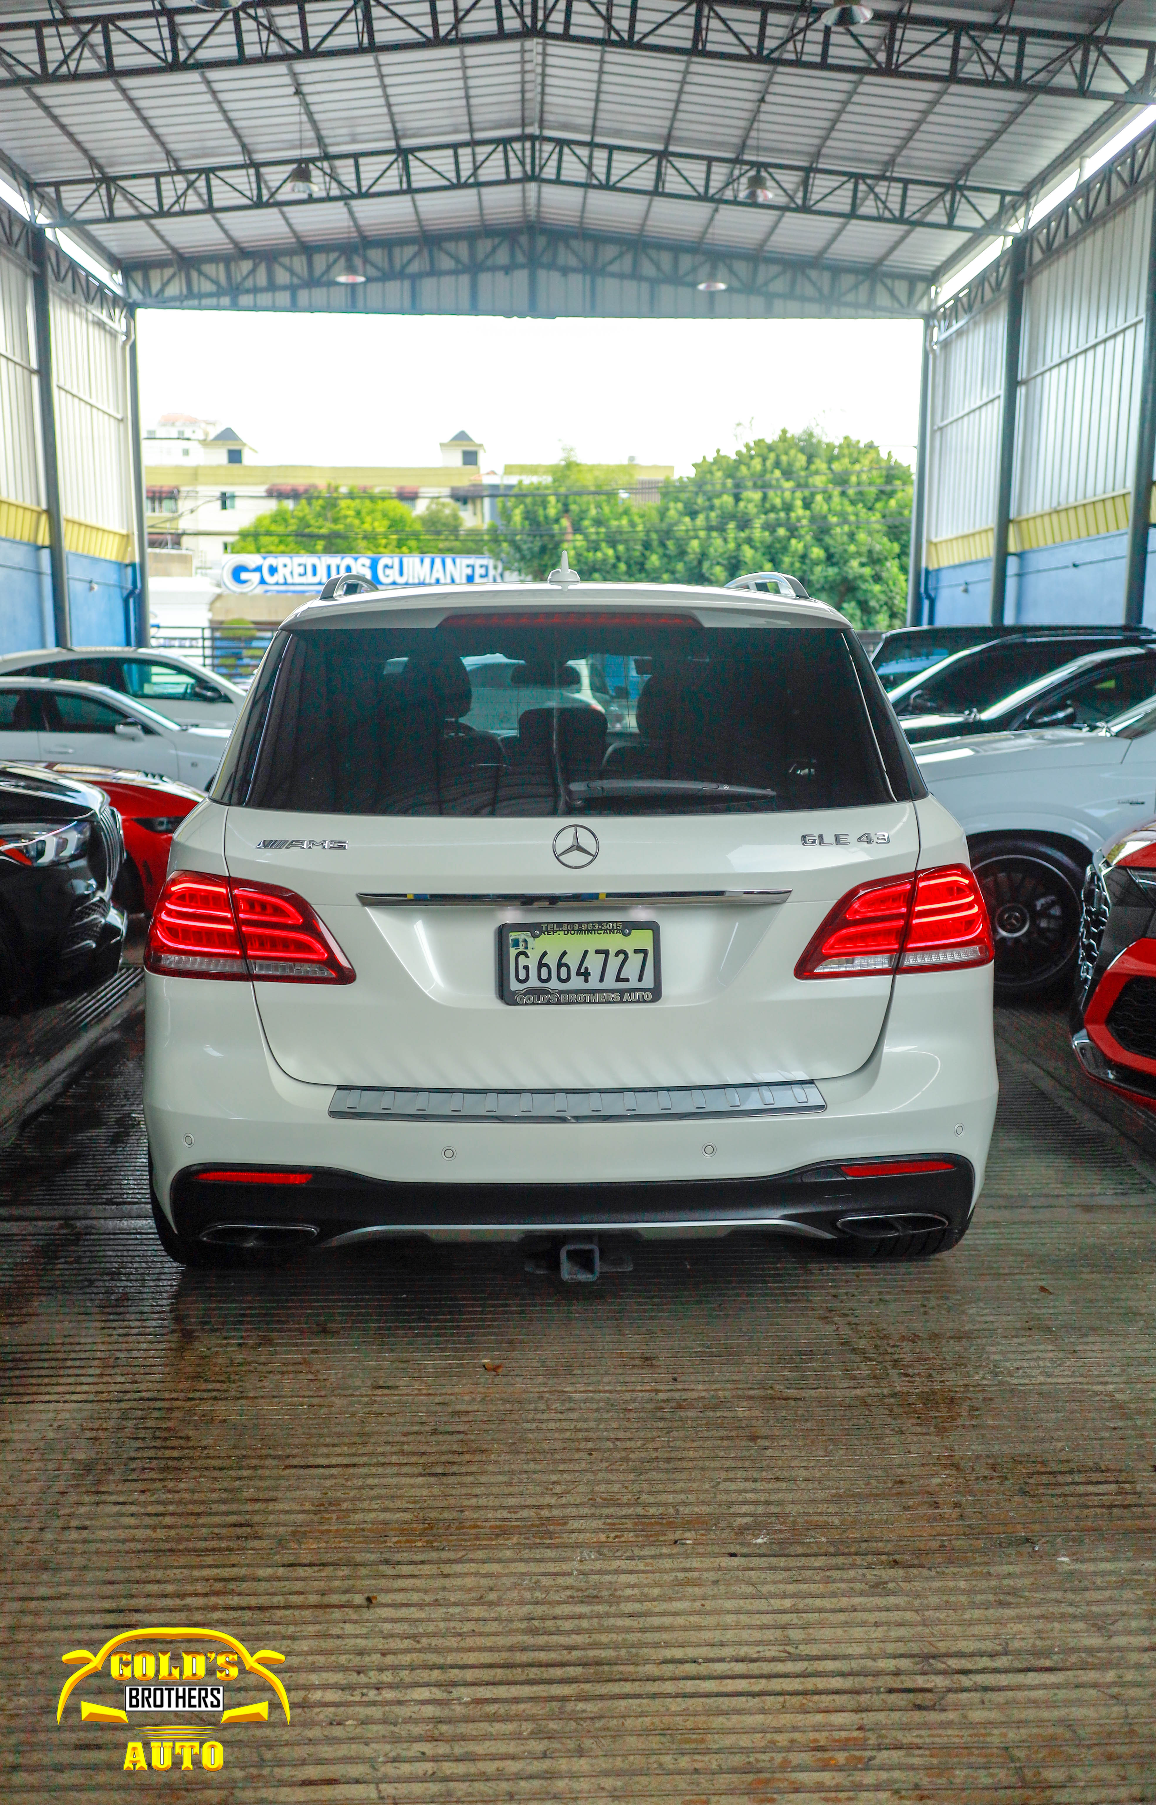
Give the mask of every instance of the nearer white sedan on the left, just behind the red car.
<svg viewBox="0 0 1156 1805">
<path fill-rule="evenodd" d="M 117 765 L 207 789 L 229 727 L 186 727 L 96 682 L 0 677 L 0 760 Z"/>
</svg>

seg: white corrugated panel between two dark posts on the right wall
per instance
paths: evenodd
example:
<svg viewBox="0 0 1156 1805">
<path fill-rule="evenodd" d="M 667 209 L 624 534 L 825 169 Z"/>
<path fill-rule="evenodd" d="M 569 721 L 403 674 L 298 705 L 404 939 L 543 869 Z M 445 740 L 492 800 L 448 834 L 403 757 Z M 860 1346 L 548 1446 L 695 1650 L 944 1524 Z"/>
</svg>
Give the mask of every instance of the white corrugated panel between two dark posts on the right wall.
<svg viewBox="0 0 1156 1805">
<path fill-rule="evenodd" d="M 1014 514 L 1131 489 L 1151 209 L 1136 195 L 1028 280 Z"/>
</svg>

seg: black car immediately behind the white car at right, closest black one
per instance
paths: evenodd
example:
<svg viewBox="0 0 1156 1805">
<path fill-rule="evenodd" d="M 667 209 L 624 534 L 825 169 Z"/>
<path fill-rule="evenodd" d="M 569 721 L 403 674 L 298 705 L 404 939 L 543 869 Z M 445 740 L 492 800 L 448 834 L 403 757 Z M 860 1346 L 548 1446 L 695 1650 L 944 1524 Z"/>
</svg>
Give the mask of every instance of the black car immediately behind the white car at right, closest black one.
<svg viewBox="0 0 1156 1805">
<path fill-rule="evenodd" d="M 1060 664 L 1057 671 L 1021 684 L 990 708 L 954 713 L 902 715 L 914 745 L 972 733 L 1017 733 L 1030 727 L 1102 727 L 1136 702 L 1156 695 L 1156 644 L 1115 646 Z"/>
</svg>

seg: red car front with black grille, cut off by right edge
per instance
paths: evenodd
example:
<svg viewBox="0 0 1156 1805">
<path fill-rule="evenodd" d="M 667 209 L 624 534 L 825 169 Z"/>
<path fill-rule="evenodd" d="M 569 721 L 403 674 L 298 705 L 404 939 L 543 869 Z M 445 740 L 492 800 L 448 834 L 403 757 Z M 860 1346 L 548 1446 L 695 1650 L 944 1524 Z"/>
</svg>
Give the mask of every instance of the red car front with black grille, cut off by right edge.
<svg viewBox="0 0 1156 1805">
<path fill-rule="evenodd" d="M 1156 821 L 1087 868 L 1071 1045 L 1089 1078 L 1156 1108 Z"/>
</svg>

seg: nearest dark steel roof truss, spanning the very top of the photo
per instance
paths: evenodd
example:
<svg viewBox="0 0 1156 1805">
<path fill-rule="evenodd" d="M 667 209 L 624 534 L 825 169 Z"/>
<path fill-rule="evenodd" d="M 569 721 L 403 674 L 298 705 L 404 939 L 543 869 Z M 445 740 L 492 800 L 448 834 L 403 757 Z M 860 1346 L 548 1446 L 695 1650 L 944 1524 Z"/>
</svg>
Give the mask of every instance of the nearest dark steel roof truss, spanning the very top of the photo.
<svg viewBox="0 0 1156 1805">
<path fill-rule="evenodd" d="M 1156 45 L 1109 31 L 878 16 L 853 31 L 822 27 L 795 0 L 242 0 L 110 7 L 0 23 L 0 87 L 106 81 L 114 76 L 254 69 L 460 43 L 541 38 L 940 87 L 1053 92 L 1147 101 Z"/>
</svg>

